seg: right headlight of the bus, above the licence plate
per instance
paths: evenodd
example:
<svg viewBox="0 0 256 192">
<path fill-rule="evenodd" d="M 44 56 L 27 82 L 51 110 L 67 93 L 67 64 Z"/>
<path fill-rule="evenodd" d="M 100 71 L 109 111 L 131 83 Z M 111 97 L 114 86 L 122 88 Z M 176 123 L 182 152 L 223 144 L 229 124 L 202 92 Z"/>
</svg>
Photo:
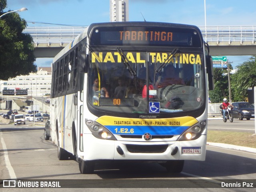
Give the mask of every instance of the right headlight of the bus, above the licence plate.
<svg viewBox="0 0 256 192">
<path fill-rule="evenodd" d="M 197 139 L 198 137 L 200 137 L 205 127 L 206 127 L 206 120 L 196 123 L 189 129 L 184 131 L 184 133 L 182 133 L 182 135 L 180 135 L 180 137 L 178 138 L 178 141 L 188 141 L 188 140 Z"/>
</svg>

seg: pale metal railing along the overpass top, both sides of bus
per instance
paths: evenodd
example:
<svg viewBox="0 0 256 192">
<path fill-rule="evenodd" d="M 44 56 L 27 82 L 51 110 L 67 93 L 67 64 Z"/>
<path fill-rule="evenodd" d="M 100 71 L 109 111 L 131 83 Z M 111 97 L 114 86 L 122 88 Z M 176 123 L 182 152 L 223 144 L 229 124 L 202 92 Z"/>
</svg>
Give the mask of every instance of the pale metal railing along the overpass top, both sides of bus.
<svg viewBox="0 0 256 192">
<path fill-rule="evenodd" d="M 256 25 L 252 26 L 198 26 L 206 42 L 256 41 Z M 26 27 L 24 33 L 29 33 L 35 43 L 69 43 L 86 27 Z"/>
</svg>

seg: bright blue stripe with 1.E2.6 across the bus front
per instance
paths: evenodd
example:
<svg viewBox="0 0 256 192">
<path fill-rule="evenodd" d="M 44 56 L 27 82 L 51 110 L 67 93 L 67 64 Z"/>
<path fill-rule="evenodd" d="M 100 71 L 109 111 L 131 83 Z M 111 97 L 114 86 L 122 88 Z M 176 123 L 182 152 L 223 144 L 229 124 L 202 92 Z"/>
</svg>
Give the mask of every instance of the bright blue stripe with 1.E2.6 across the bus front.
<svg viewBox="0 0 256 192">
<path fill-rule="evenodd" d="M 105 125 L 113 134 L 118 135 L 180 135 L 189 126 L 130 126 L 130 125 Z"/>
</svg>

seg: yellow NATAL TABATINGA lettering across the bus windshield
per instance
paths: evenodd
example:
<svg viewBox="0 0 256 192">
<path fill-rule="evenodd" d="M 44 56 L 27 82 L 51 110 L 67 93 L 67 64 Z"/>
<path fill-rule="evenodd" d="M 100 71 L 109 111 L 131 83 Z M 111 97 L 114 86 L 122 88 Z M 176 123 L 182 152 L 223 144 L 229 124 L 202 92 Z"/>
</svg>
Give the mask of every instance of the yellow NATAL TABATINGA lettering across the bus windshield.
<svg viewBox="0 0 256 192">
<path fill-rule="evenodd" d="M 126 58 L 131 63 L 146 63 L 146 53 L 142 52 L 127 52 Z M 164 63 L 170 53 L 149 53 L 149 62 Z M 122 57 L 118 52 L 92 52 L 92 63 L 122 63 Z M 201 65 L 201 57 L 199 54 L 192 53 L 178 53 L 168 61 L 168 63 L 180 63 L 180 64 L 196 64 Z"/>
</svg>

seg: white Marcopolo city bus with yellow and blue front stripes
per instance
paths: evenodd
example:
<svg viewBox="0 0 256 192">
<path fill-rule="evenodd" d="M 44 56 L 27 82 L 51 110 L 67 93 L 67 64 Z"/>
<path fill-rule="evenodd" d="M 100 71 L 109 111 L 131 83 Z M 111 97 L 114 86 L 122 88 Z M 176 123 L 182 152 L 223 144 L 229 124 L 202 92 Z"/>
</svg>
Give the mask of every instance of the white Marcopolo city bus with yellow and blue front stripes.
<svg viewBox="0 0 256 192">
<path fill-rule="evenodd" d="M 75 159 L 82 174 L 102 160 L 156 161 L 170 172 L 205 160 L 213 77 L 198 27 L 91 24 L 56 55 L 52 71 L 52 141 L 58 159 Z"/>
</svg>

